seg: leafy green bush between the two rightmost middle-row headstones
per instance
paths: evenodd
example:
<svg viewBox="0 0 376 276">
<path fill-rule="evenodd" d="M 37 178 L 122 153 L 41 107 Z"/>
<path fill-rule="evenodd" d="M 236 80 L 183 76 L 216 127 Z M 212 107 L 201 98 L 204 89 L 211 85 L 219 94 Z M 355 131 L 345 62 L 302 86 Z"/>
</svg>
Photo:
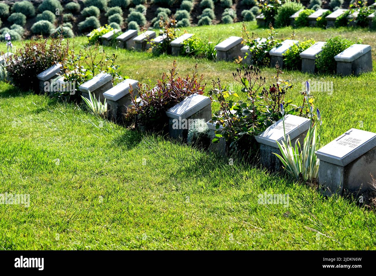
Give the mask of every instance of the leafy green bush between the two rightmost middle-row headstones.
<svg viewBox="0 0 376 276">
<path fill-rule="evenodd" d="M 317 55 L 317 71 L 324 74 L 334 73 L 337 68 L 334 57 L 355 43 L 360 43 L 360 41 L 346 39 L 343 36 L 334 36 L 327 39 L 323 50 Z"/>
</svg>

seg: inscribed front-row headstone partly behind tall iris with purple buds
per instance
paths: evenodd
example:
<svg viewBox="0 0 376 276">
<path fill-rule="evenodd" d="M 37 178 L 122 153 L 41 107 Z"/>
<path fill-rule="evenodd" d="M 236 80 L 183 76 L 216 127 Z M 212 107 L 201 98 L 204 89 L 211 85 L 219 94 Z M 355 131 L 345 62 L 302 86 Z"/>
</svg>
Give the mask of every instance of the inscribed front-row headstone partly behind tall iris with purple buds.
<svg viewBox="0 0 376 276">
<path fill-rule="evenodd" d="M 295 145 L 297 139 L 299 139 L 300 144 L 303 143 L 309 124 L 311 124 L 311 121 L 307 118 L 291 114 L 285 116 L 286 137 L 290 137 L 292 145 Z M 281 143 L 285 140 L 282 119 L 275 122 L 255 138 L 260 143 L 261 164 L 270 170 L 279 170 L 282 167 L 282 163 L 273 152 L 281 155 L 276 141 Z"/>
</svg>

